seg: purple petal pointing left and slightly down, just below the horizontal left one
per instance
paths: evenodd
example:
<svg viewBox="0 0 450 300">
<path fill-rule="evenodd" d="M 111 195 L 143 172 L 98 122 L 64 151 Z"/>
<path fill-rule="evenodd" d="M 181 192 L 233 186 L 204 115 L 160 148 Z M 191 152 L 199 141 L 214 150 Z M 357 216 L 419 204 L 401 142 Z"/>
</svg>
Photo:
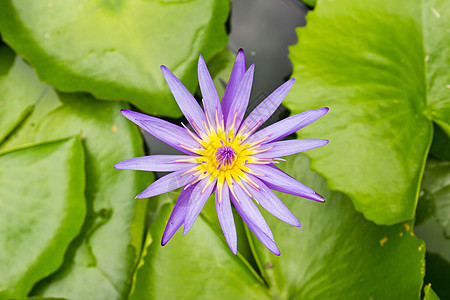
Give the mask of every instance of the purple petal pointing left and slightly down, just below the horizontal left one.
<svg viewBox="0 0 450 300">
<path fill-rule="evenodd" d="M 150 184 L 142 193 L 136 196 L 136 199 L 143 199 L 153 197 L 159 194 L 164 194 L 173 191 L 179 187 L 182 187 L 189 182 L 192 182 L 194 176 L 191 174 L 182 175 L 191 168 L 187 168 L 180 171 L 175 171 L 164 177 L 159 178 L 152 184 Z"/>
</svg>

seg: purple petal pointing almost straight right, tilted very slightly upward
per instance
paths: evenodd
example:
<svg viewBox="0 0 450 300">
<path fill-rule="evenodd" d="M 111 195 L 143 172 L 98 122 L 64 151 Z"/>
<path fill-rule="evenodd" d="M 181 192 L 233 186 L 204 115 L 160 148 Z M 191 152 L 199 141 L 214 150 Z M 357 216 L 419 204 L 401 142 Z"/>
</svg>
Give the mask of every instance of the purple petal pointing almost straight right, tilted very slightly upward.
<svg viewBox="0 0 450 300">
<path fill-rule="evenodd" d="M 301 140 L 273 142 L 269 144 L 264 144 L 261 147 L 257 148 L 258 151 L 268 148 L 271 149 L 262 153 L 255 154 L 255 157 L 258 158 L 282 157 L 322 147 L 325 146 L 326 144 L 328 144 L 328 140 L 322 139 L 301 139 Z"/>
</svg>

